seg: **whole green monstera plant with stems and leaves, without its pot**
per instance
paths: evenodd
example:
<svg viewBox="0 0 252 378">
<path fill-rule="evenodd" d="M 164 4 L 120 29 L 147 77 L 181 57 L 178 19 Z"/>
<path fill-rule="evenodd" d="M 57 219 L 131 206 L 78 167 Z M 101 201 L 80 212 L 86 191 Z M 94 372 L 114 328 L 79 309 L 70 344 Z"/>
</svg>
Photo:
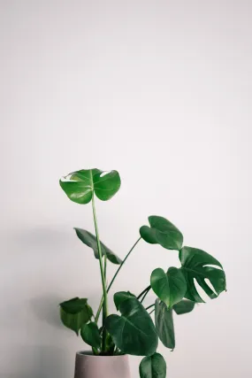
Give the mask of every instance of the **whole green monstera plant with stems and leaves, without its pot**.
<svg viewBox="0 0 252 378">
<path fill-rule="evenodd" d="M 175 348 L 173 313 L 191 312 L 195 303 L 204 302 L 195 287 L 197 282 L 205 293 L 216 298 L 225 290 L 225 273 L 221 264 L 209 253 L 183 245 L 183 235 L 169 220 L 152 215 L 149 226 L 140 228 L 140 237 L 121 260 L 100 240 L 95 213 L 95 197 L 108 201 L 120 188 L 117 171 L 82 169 L 60 180 L 67 197 L 77 204 L 92 204 L 95 235 L 82 228 L 74 228 L 80 241 L 94 251 L 101 271 L 103 293 L 96 312 L 88 305 L 86 297 L 74 297 L 60 304 L 60 317 L 65 327 L 92 347 L 95 355 L 111 356 L 130 354 L 144 356 L 140 365 L 141 378 L 164 378 L 166 364 L 157 353 L 158 339 L 169 349 Z M 108 294 L 126 259 L 141 240 L 159 244 L 164 250 L 178 251 L 179 268 L 157 267 L 150 275 L 148 286 L 139 295 L 119 291 L 114 295 L 117 313 L 110 314 Z M 110 261 L 118 266 L 107 283 L 106 267 Z M 145 307 L 144 299 L 153 290 L 157 299 Z M 154 312 L 154 320 L 151 314 Z M 100 315 L 102 321 L 100 322 Z"/>
</svg>

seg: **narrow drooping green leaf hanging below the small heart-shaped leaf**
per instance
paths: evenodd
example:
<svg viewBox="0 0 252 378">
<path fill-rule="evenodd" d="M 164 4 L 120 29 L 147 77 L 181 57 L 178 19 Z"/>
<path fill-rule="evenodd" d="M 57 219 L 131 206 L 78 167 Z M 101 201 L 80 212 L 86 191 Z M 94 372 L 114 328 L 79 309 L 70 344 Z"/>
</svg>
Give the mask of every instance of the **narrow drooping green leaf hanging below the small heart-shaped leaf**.
<svg viewBox="0 0 252 378">
<path fill-rule="evenodd" d="M 155 325 L 157 335 L 166 348 L 175 348 L 172 309 L 168 309 L 164 302 L 155 302 Z"/>
</svg>

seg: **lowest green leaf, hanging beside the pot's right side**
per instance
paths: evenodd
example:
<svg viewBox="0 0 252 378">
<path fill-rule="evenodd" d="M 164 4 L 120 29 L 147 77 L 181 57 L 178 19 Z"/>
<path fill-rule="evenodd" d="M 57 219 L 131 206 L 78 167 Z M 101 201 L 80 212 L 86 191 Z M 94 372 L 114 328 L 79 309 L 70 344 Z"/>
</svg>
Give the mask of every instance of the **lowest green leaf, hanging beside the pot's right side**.
<svg viewBox="0 0 252 378">
<path fill-rule="evenodd" d="M 164 357 L 159 353 L 154 353 L 152 356 L 142 359 L 139 374 L 141 378 L 165 378 L 166 363 Z"/>
</svg>

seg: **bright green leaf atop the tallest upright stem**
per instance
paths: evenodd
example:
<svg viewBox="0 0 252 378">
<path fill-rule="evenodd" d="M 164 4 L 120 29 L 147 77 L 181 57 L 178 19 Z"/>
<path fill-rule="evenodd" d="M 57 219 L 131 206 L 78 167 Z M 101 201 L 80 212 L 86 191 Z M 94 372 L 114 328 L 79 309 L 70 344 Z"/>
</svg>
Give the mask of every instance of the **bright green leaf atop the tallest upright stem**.
<svg viewBox="0 0 252 378">
<path fill-rule="evenodd" d="M 120 188 L 121 181 L 117 171 L 103 172 L 100 169 L 81 169 L 63 177 L 61 188 L 67 197 L 77 204 L 88 204 L 93 193 L 102 201 L 108 201 Z"/>
</svg>

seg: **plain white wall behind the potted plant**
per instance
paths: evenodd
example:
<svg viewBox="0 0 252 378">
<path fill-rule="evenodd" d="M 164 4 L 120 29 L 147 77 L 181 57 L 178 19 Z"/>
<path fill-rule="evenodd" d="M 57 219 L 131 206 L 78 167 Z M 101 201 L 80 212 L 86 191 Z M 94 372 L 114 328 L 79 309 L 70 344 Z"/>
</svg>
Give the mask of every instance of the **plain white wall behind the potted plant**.
<svg viewBox="0 0 252 378">
<path fill-rule="evenodd" d="M 71 378 L 85 349 L 57 304 L 99 301 L 97 261 L 73 232 L 93 230 L 91 209 L 58 179 L 89 167 L 121 174 L 97 204 L 118 255 L 157 214 L 225 266 L 227 293 L 175 319 L 175 351 L 160 346 L 168 376 L 251 376 L 251 2 L 0 3 L 0 377 Z M 114 290 L 139 293 L 178 264 L 141 242 Z"/>
</svg>

